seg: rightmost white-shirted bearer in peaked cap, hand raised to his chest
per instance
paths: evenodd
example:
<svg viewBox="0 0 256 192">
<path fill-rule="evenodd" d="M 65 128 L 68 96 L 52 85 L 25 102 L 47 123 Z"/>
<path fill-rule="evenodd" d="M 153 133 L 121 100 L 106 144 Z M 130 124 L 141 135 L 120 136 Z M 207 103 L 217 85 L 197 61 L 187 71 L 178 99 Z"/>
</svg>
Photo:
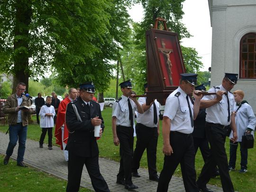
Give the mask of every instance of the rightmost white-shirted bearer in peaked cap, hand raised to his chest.
<svg viewBox="0 0 256 192">
<path fill-rule="evenodd" d="M 223 192 L 234 192 L 234 187 L 229 175 L 228 158 L 225 150 L 226 135 L 231 126 L 233 142 L 237 140 L 234 107 L 235 100 L 230 92 L 237 83 L 238 74 L 225 73 L 221 85 L 210 88 L 208 92 L 216 95 L 206 95 L 201 100 L 201 109 L 206 109 L 206 136 L 210 143 L 210 156 L 205 162 L 197 185 L 203 192 L 211 192 L 206 187 L 210 181 L 211 173 L 216 164 L 219 168 Z"/>
</svg>

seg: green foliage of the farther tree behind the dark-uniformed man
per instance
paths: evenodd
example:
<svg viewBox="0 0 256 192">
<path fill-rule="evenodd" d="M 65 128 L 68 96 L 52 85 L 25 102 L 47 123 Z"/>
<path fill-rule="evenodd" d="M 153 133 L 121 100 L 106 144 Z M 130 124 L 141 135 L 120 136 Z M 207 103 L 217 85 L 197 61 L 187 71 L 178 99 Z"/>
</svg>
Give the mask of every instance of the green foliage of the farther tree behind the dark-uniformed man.
<svg viewBox="0 0 256 192">
<path fill-rule="evenodd" d="M 64 69 L 62 65 L 55 66 L 55 80 L 59 84 L 77 87 L 80 83 L 92 81 L 97 92 L 104 92 L 109 88 L 114 68 L 110 64 L 110 60 L 119 58 L 119 50 L 126 45 L 128 33 L 130 33 L 128 25 L 130 20 L 127 12 L 129 2 L 123 0 L 108 1 L 109 6 L 104 10 L 109 14 L 106 18 L 109 25 L 106 25 L 103 32 L 104 38 L 99 39 L 98 36 L 91 38 L 91 42 L 100 51 L 95 52 L 92 56 L 84 55 L 81 60 L 76 63 L 69 63 L 69 66 Z"/>
</svg>

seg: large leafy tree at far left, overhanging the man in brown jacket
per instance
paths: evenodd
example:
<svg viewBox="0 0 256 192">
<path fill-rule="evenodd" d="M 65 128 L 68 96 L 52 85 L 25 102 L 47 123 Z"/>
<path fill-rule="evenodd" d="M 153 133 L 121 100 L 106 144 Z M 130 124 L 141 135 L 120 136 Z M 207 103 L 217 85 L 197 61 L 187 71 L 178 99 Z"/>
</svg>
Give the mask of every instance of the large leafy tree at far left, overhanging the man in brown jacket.
<svg viewBox="0 0 256 192">
<path fill-rule="evenodd" d="M 28 88 L 29 77 L 38 81 L 50 67 L 69 71 L 93 58 L 109 31 L 112 7 L 105 0 L 0 1 L 0 68 L 14 75 L 14 85 Z"/>
</svg>

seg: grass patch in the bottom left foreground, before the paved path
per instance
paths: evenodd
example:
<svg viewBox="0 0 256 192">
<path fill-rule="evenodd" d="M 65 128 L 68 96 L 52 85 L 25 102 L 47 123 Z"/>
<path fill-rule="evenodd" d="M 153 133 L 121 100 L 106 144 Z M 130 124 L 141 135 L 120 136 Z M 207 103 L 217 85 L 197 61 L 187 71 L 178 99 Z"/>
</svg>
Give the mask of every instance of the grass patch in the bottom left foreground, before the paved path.
<svg viewBox="0 0 256 192">
<path fill-rule="evenodd" d="M 9 160 L 3 165 L 4 156 L 0 155 L 0 192 L 65 192 L 67 182 L 43 171 L 18 167 L 16 161 Z M 80 192 L 91 192 L 81 188 Z"/>
</svg>

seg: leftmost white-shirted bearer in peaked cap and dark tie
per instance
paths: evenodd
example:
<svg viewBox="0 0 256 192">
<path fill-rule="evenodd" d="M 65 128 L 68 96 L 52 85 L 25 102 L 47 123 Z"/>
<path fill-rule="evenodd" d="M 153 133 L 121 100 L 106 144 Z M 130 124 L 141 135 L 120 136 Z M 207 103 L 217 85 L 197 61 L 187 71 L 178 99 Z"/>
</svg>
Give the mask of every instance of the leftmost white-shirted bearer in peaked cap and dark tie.
<svg viewBox="0 0 256 192">
<path fill-rule="evenodd" d="M 114 102 L 112 111 L 113 140 L 116 146 L 120 143 L 121 154 L 117 183 L 125 185 L 125 188 L 130 190 L 138 188 L 132 183 L 135 110 L 143 113 L 143 108 L 134 97 L 130 80 L 120 83 L 119 86 L 123 94 Z"/>
</svg>

